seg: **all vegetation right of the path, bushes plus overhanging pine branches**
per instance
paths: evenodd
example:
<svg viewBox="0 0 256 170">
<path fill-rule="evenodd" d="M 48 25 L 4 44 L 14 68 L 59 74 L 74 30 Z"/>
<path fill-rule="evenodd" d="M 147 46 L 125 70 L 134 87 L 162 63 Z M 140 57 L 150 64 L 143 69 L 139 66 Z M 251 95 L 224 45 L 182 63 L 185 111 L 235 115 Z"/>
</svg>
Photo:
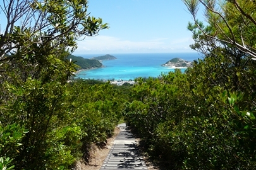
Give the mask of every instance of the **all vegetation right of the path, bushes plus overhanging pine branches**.
<svg viewBox="0 0 256 170">
<path fill-rule="evenodd" d="M 256 169 L 256 6 L 221 2 L 185 1 L 195 18 L 191 47 L 203 60 L 132 89 L 127 123 L 167 169 Z M 196 18 L 199 4 L 207 26 Z"/>
</svg>

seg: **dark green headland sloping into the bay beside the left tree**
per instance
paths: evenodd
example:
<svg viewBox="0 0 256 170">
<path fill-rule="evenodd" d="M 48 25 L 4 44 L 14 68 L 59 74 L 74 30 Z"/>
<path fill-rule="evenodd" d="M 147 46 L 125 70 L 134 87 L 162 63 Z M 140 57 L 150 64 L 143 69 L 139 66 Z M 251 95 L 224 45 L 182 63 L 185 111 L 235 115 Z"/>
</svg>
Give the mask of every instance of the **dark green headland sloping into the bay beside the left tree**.
<svg viewBox="0 0 256 170">
<path fill-rule="evenodd" d="M 99 62 L 99 60 L 96 59 L 85 59 L 83 57 L 77 57 L 75 55 L 68 55 L 68 60 L 72 59 L 72 61 L 75 61 L 76 65 L 79 65 L 80 68 L 76 68 L 77 70 L 80 69 L 92 69 L 92 68 L 99 68 L 102 67 L 102 63 Z"/>
</svg>

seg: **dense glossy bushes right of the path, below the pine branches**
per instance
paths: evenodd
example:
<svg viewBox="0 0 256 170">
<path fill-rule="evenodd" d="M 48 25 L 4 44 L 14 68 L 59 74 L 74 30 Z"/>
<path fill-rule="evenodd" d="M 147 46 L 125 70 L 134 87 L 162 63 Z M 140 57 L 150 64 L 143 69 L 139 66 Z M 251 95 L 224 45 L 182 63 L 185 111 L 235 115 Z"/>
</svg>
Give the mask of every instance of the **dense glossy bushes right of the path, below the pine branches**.
<svg viewBox="0 0 256 170">
<path fill-rule="evenodd" d="M 239 56 L 216 48 L 185 74 L 137 79 L 126 119 L 152 158 L 168 169 L 255 169 L 254 61 Z"/>
</svg>

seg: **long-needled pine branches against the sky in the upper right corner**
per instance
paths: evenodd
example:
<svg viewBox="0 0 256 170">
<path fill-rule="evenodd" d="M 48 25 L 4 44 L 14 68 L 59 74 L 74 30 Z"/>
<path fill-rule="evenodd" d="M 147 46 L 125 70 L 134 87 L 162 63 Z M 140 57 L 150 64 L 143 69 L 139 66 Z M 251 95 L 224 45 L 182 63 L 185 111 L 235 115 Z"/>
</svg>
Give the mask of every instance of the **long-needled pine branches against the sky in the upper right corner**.
<svg viewBox="0 0 256 170">
<path fill-rule="evenodd" d="M 193 49 L 208 54 L 216 47 L 235 47 L 236 50 L 248 54 L 250 59 L 256 57 L 256 15 L 253 13 L 253 1 L 182 1 L 194 20 L 194 23 L 188 25 L 188 30 L 192 31 L 195 40 L 191 46 Z M 205 8 L 207 25 L 197 19 L 200 6 Z"/>
</svg>

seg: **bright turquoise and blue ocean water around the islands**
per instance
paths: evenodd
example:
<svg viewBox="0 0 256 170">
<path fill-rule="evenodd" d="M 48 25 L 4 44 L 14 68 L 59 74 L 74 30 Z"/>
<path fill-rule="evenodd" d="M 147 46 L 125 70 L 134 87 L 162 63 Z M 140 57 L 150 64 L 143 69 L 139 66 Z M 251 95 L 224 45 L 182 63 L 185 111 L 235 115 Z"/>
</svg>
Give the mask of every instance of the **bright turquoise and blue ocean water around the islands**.
<svg viewBox="0 0 256 170">
<path fill-rule="evenodd" d="M 80 55 L 86 59 L 100 55 Z M 133 80 L 137 77 L 158 77 L 161 73 L 174 71 L 169 67 L 162 67 L 168 60 L 181 58 L 188 61 L 202 59 L 198 53 L 170 53 L 170 54 L 113 54 L 116 60 L 103 61 L 103 68 L 81 71 L 76 77 L 82 79 L 104 80 Z M 185 71 L 185 69 L 181 69 Z"/>
</svg>

